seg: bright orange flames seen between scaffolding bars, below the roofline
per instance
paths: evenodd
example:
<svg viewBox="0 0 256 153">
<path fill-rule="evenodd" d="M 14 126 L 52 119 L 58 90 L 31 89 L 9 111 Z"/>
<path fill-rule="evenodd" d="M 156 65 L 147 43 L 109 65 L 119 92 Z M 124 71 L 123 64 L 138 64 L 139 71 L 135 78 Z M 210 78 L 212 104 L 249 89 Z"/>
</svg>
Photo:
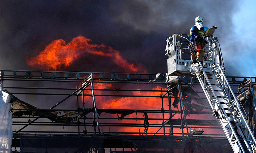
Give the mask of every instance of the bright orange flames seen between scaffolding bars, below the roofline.
<svg viewBox="0 0 256 153">
<path fill-rule="evenodd" d="M 95 83 L 94 84 L 95 89 L 109 89 L 113 88 L 112 84 L 106 84 L 106 83 Z M 101 109 L 145 109 L 145 110 L 161 110 L 161 98 L 160 97 L 160 90 L 161 86 L 156 86 L 151 88 L 152 90 L 159 90 L 158 92 L 151 92 L 151 91 L 132 91 L 129 95 L 134 97 L 103 97 L 103 96 L 96 96 L 96 106 L 97 108 Z M 140 87 L 137 88 L 137 90 L 141 90 Z M 122 93 L 119 93 L 122 91 L 115 92 L 118 95 L 122 95 Z M 94 91 L 95 95 L 107 95 L 107 91 Z M 113 93 L 113 94 L 115 94 Z M 91 91 L 87 90 L 84 91 L 84 94 L 91 94 Z M 155 96 L 155 97 L 136 97 L 136 96 Z M 157 96 L 157 97 L 156 97 Z M 85 103 L 87 107 L 92 107 L 91 97 L 86 96 L 85 97 Z M 168 99 L 163 99 L 163 107 L 168 110 Z M 130 115 L 127 115 L 125 118 L 143 118 L 143 113 L 133 113 Z M 109 114 L 107 114 L 109 116 Z M 116 117 L 117 115 L 112 115 L 113 117 Z M 162 114 L 159 113 L 148 113 L 148 117 L 150 119 L 153 118 L 162 118 Z M 169 116 L 166 115 L 165 118 L 168 118 Z M 119 122 L 119 121 L 117 121 Z M 136 124 L 143 124 L 143 120 L 122 120 L 120 123 L 136 123 Z M 162 120 L 150 120 L 150 124 L 161 124 Z M 144 133 L 143 127 L 118 127 L 115 129 L 115 131 L 118 132 L 139 132 L 139 129 L 141 130 L 141 133 Z M 151 127 L 148 129 L 148 133 L 156 132 L 158 128 Z M 160 131 L 162 132 L 162 130 Z"/>
</svg>

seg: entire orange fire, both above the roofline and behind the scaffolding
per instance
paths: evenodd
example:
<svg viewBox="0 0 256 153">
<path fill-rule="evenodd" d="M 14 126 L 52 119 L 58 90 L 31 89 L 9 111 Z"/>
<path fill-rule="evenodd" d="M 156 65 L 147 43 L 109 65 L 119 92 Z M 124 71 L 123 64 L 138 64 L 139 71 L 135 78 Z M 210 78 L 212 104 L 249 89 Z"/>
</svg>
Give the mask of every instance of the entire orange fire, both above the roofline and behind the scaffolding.
<svg viewBox="0 0 256 153">
<path fill-rule="evenodd" d="M 78 36 L 73 38 L 73 40 L 66 44 L 63 39 L 58 39 L 53 41 L 51 44 L 47 45 L 45 49 L 37 56 L 31 57 L 27 64 L 29 66 L 33 66 L 36 68 L 43 68 L 47 70 L 61 70 L 62 67 L 69 67 L 72 63 L 79 61 L 81 55 L 83 54 L 90 54 L 96 55 L 101 57 L 108 57 L 111 59 L 117 66 L 123 68 L 125 72 L 138 72 L 138 73 L 146 73 L 147 70 L 143 68 L 141 64 L 134 64 L 130 63 L 125 60 L 119 51 L 114 50 L 111 47 L 106 47 L 105 45 L 95 45 L 91 44 L 91 40 L 85 38 L 83 36 Z M 83 70 L 82 70 L 83 71 Z M 95 83 L 95 89 L 113 89 L 113 84 L 108 83 Z M 161 88 L 165 88 L 166 86 L 157 86 L 152 88 L 152 90 L 161 90 Z M 136 88 L 140 90 L 141 87 L 139 85 L 134 85 L 133 89 Z M 91 94 L 91 91 L 85 90 L 84 94 Z M 107 95 L 106 91 L 99 91 L 95 90 L 96 95 Z M 115 92 L 115 91 L 114 91 Z M 108 93 L 109 94 L 109 93 Z M 112 93 L 114 94 L 114 93 Z M 119 94 L 119 93 L 118 93 Z M 133 91 L 130 92 L 130 97 L 104 97 L 104 96 L 97 96 L 96 97 L 96 106 L 97 108 L 101 109 L 146 109 L 146 110 L 161 110 L 162 109 L 162 101 L 159 97 L 161 92 L 150 92 L 150 91 Z M 121 94 L 122 95 L 122 94 Z M 141 96 L 141 97 L 139 97 Z M 158 97 L 142 97 L 142 96 L 158 96 Z M 93 107 L 92 106 L 92 99 L 91 96 L 85 96 L 85 103 L 86 107 Z M 168 99 L 163 99 L 163 108 L 168 110 Z M 175 109 L 175 108 L 174 108 Z M 178 108 L 180 110 L 180 108 Z M 143 113 L 133 113 L 127 115 L 126 118 L 143 118 Z M 150 119 L 161 119 L 163 116 L 162 114 L 157 113 L 148 113 L 147 114 Z M 111 115 L 109 115 L 111 116 Z M 165 115 L 164 118 L 168 118 L 169 115 Z M 175 118 L 180 118 L 180 116 Z M 194 118 L 188 117 L 188 118 Z M 130 120 L 122 120 L 122 123 L 130 123 Z M 162 120 L 149 120 L 150 124 L 162 124 Z M 136 120 L 136 123 L 143 124 L 143 120 Z M 143 128 L 139 127 L 119 127 L 115 129 L 115 131 L 119 132 L 141 132 L 143 133 Z M 157 131 L 158 128 L 149 128 L 148 133 L 154 133 Z M 176 131 L 174 133 L 181 133 L 181 129 L 175 128 Z M 166 129 L 169 131 L 169 128 Z M 161 131 L 163 132 L 163 129 Z M 186 133 L 186 132 L 185 132 Z"/>
</svg>

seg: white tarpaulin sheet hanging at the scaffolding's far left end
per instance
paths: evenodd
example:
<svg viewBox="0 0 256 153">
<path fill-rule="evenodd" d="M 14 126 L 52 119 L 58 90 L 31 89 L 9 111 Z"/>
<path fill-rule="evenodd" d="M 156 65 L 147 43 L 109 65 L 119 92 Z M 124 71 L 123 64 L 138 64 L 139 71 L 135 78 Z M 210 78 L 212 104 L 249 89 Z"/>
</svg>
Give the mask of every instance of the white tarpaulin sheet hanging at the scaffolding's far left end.
<svg viewBox="0 0 256 153">
<path fill-rule="evenodd" d="M 3 91 L 2 81 L 0 81 L 0 90 L 0 153 L 10 153 L 12 151 L 11 98 Z"/>
</svg>

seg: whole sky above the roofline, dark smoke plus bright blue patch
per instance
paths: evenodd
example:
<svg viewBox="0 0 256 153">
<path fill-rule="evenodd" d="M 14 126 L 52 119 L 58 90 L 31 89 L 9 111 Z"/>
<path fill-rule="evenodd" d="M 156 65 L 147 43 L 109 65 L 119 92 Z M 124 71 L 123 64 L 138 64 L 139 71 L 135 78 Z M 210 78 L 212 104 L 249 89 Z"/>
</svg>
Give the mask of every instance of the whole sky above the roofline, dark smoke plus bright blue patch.
<svg viewBox="0 0 256 153">
<path fill-rule="evenodd" d="M 57 71 L 166 73 L 166 36 L 189 34 L 194 19 L 217 26 L 228 76 L 256 76 L 254 67 L 255 3 L 247 1 L 0 1 L 0 69 L 51 70 L 29 66 L 57 39 L 69 44 L 83 36 L 91 45 L 110 48 L 106 56 L 83 52 Z M 99 48 L 97 48 L 99 51 Z M 113 54 L 118 54 L 116 57 Z M 117 59 L 118 58 L 118 59 Z M 50 61 L 51 62 L 51 61 Z"/>
</svg>

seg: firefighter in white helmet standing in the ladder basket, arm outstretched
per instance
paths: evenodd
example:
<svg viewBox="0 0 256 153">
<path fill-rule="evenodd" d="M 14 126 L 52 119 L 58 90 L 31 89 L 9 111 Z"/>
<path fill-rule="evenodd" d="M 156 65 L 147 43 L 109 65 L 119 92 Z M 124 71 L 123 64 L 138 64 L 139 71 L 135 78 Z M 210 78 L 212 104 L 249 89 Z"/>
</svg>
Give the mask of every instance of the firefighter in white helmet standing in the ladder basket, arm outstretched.
<svg viewBox="0 0 256 153">
<path fill-rule="evenodd" d="M 190 29 L 190 41 L 196 46 L 195 51 L 197 55 L 198 61 L 203 61 L 203 57 L 205 52 L 200 51 L 197 49 L 203 49 L 204 48 L 204 40 L 201 36 L 210 36 L 213 35 L 215 29 L 217 29 L 216 26 L 212 26 L 212 28 L 208 28 L 203 26 L 203 18 L 198 16 L 195 19 L 195 25 Z M 193 50 L 190 51 L 190 58 L 193 61 L 196 61 L 196 56 L 193 52 Z"/>
</svg>

